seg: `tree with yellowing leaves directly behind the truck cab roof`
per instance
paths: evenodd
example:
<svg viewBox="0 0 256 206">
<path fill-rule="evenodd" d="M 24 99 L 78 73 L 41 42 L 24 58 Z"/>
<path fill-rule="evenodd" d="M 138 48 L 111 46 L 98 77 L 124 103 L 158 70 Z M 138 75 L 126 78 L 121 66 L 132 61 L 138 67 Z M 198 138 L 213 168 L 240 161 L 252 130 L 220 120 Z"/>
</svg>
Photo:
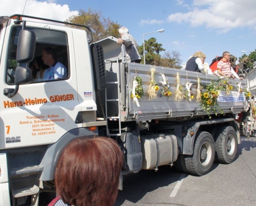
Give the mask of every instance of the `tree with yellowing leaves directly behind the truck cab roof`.
<svg viewBox="0 0 256 206">
<path fill-rule="evenodd" d="M 92 11 L 91 8 L 88 11 L 80 10 L 78 15 L 70 16 L 65 22 L 73 23 L 73 24 L 81 24 L 91 28 L 93 32 L 93 42 L 97 42 L 101 39 L 107 38 L 109 36 L 113 36 L 118 38 L 118 28 L 121 25 L 111 21 L 109 18 L 106 19 L 102 16 L 101 11 Z M 66 25 L 71 26 L 71 25 Z M 78 26 L 71 26 L 78 27 Z M 85 29 L 84 27 L 80 27 Z M 87 32 L 87 29 L 85 29 Z M 89 33 L 87 32 L 87 35 Z"/>
</svg>

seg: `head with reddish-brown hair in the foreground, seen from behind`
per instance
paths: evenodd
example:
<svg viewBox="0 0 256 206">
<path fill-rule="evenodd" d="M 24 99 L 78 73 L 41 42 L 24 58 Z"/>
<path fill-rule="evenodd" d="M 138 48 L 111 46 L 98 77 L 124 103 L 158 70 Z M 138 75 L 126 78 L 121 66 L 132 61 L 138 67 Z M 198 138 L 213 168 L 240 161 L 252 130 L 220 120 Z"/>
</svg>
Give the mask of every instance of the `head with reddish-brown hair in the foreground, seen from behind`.
<svg viewBox="0 0 256 206">
<path fill-rule="evenodd" d="M 122 165 L 122 151 L 114 140 L 76 139 L 58 160 L 56 191 L 70 205 L 112 206 L 118 194 Z"/>
</svg>

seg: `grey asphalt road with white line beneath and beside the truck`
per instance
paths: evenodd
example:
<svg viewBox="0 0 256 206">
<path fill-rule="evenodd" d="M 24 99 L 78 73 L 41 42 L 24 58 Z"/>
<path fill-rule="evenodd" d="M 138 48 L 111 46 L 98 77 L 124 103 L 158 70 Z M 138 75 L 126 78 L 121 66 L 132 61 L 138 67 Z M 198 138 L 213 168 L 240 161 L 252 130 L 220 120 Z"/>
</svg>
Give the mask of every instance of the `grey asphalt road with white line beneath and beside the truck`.
<svg viewBox="0 0 256 206">
<path fill-rule="evenodd" d="M 125 176 L 115 206 L 256 205 L 256 138 L 241 140 L 235 162 L 214 163 L 202 177 L 170 166 Z"/>
</svg>

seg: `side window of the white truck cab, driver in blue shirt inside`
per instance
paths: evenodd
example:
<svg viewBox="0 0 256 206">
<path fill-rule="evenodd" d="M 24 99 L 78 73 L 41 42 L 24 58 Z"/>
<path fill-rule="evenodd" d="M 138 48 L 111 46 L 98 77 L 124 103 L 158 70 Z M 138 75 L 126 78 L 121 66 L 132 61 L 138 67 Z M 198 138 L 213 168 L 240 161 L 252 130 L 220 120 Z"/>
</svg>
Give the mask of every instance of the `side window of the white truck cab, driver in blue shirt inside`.
<svg viewBox="0 0 256 206">
<path fill-rule="evenodd" d="M 50 29 L 41 29 L 41 28 L 32 28 L 26 27 L 25 29 L 31 30 L 35 32 L 36 35 L 36 49 L 34 60 L 32 62 L 27 63 L 26 66 L 31 68 L 32 70 L 32 82 L 44 82 L 44 81 L 53 81 L 53 80 L 63 80 L 69 77 L 69 59 L 68 59 L 68 41 L 67 34 L 62 31 L 54 31 Z M 8 84 L 14 84 L 15 79 L 15 68 L 18 66 L 16 61 L 16 52 L 17 52 L 17 44 L 19 38 L 19 32 L 21 30 L 21 26 L 14 26 L 12 28 L 10 43 L 9 43 L 9 51 L 8 51 L 8 65 L 6 70 L 6 82 Z M 55 62 L 59 62 L 54 65 L 62 65 L 62 76 L 57 78 L 57 75 L 52 75 L 52 71 L 54 71 L 53 67 L 50 67 L 49 62 L 44 62 L 42 58 L 43 50 L 46 48 L 52 48 L 56 55 Z M 55 67 L 56 68 L 56 67 Z M 64 69 L 65 68 L 65 69 Z M 52 76 L 50 76 L 52 75 Z"/>
</svg>

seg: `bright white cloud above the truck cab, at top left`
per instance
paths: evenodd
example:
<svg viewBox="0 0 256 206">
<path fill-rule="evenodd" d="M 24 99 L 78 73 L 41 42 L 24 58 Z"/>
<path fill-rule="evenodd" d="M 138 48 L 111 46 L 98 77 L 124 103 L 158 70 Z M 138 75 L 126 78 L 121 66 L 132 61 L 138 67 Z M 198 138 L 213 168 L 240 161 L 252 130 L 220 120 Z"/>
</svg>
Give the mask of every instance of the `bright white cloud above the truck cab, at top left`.
<svg viewBox="0 0 256 206">
<path fill-rule="evenodd" d="M 22 14 L 24 9 L 25 15 L 37 16 L 40 18 L 64 21 L 71 15 L 77 15 L 78 11 L 70 11 L 68 5 L 56 4 L 55 0 L 36 1 L 36 0 L 1 0 L 0 14 L 12 15 Z M 24 8 L 25 6 L 25 8 Z"/>
</svg>

